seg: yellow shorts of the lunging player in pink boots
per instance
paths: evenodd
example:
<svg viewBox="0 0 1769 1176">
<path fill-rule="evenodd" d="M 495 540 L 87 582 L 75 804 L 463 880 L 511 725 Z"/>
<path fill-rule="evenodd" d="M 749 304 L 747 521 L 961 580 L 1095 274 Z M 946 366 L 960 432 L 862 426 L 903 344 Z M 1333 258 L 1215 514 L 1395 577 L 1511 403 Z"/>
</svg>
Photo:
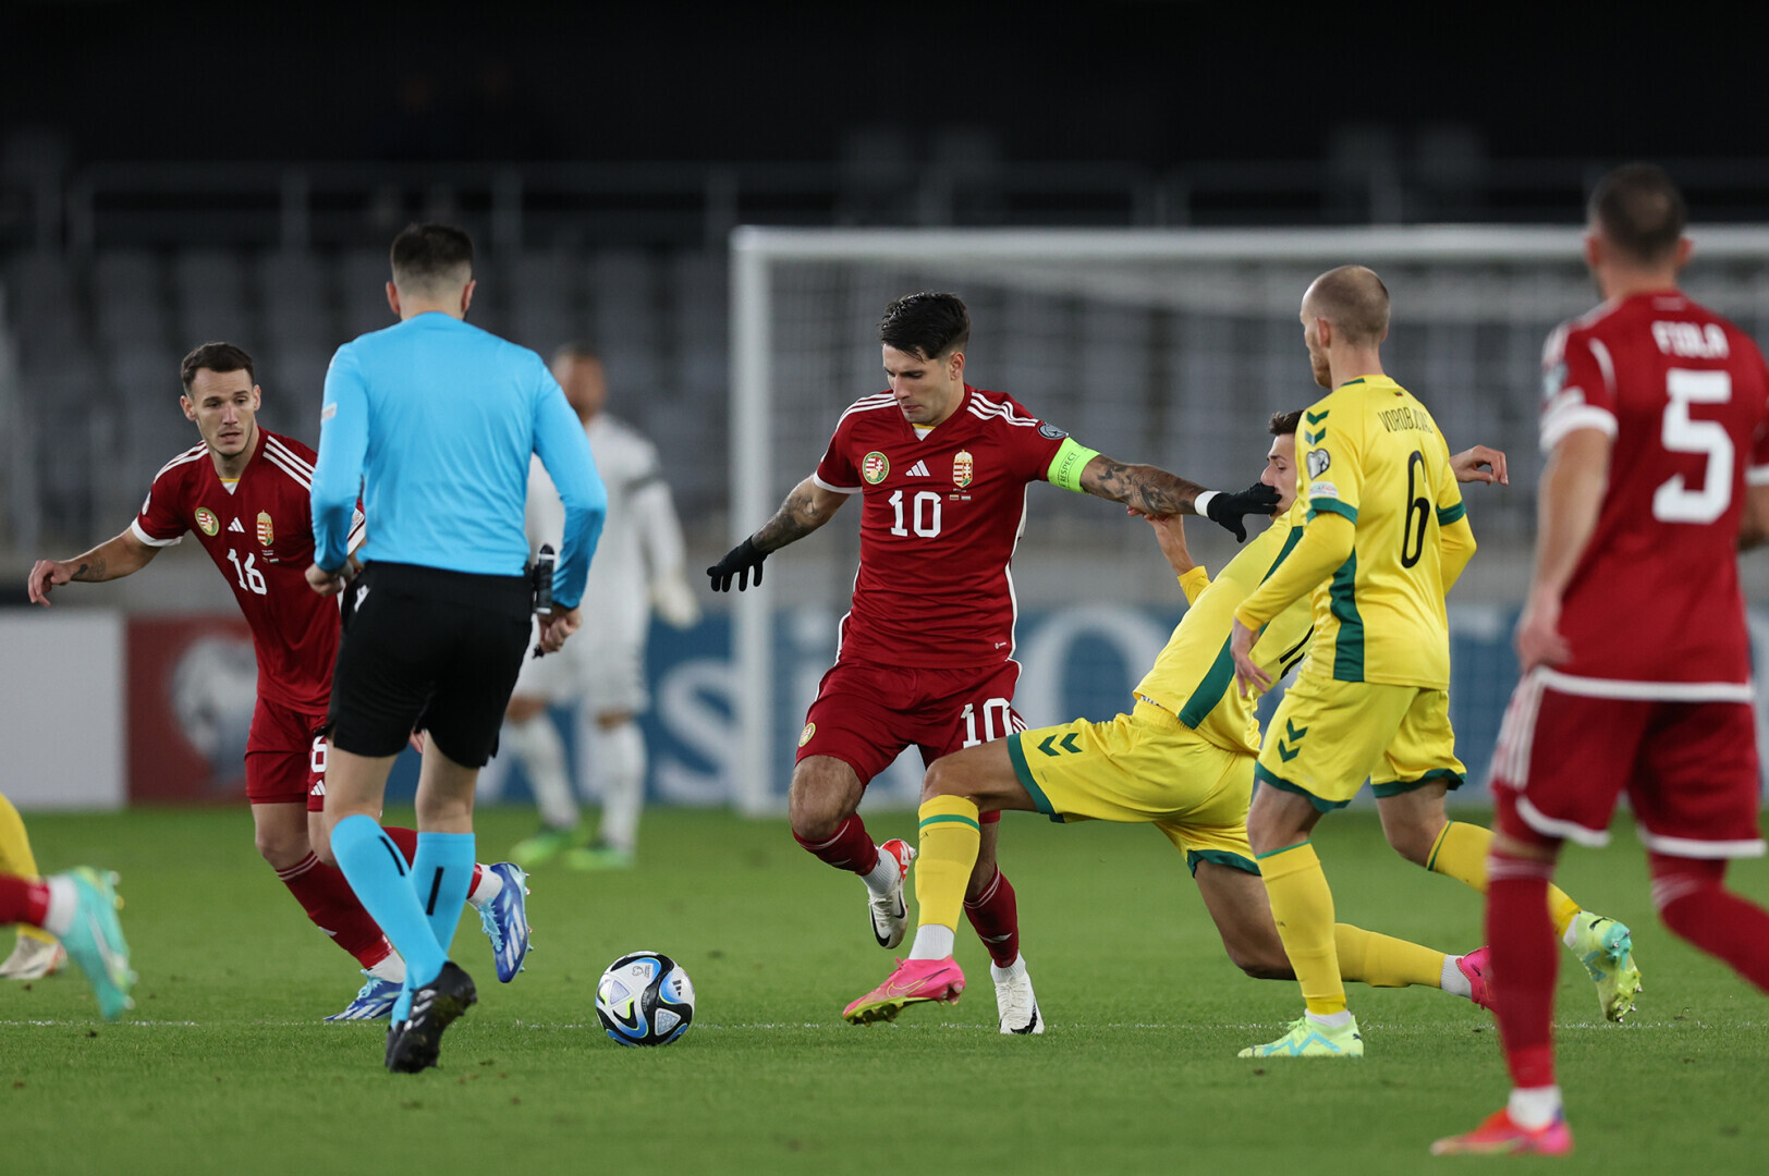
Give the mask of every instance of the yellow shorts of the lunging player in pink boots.
<svg viewBox="0 0 1769 1176">
<path fill-rule="evenodd" d="M 1051 821 L 1152 824 L 1192 874 L 1215 861 L 1258 874 L 1247 845 L 1252 757 L 1226 752 L 1148 702 L 1109 723 L 1077 720 L 1007 737 L 1019 782 Z"/>
</svg>

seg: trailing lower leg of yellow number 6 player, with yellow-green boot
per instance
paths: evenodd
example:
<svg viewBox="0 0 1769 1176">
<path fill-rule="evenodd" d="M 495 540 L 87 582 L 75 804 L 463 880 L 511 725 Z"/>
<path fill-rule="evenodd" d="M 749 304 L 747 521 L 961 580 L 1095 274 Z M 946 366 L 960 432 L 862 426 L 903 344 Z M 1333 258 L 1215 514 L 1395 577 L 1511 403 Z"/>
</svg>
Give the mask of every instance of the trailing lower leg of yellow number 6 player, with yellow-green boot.
<svg viewBox="0 0 1769 1176">
<path fill-rule="evenodd" d="M 1408 794 L 1410 798 L 1412 794 Z M 1392 806 L 1406 798 L 1383 798 L 1380 805 Z M 1417 822 L 1429 829 L 1435 821 L 1442 821 L 1442 794 L 1436 798 L 1435 813 L 1428 796 L 1419 796 L 1421 812 Z M 1383 824 L 1389 826 L 1390 813 L 1383 812 Z M 1408 859 L 1417 861 L 1433 874 L 1452 877 L 1477 893 L 1486 893 L 1486 861 L 1491 854 L 1493 831 L 1468 824 L 1467 821 L 1445 821 L 1436 838 L 1417 838 L 1421 851 L 1412 851 L 1405 838 L 1396 838 L 1396 849 Z M 1610 1020 L 1620 1020 L 1635 1008 L 1640 992 L 1640 967 L 1635 966 L 1633 935 L 1626 923 L 1594 914 L 1578 905 L 1564 890 L 1548 884 L 1548 918 L 1553 921 L 1555 935 L 1585 966 L 1585 973 L 1597 985 L 1597 1004 Z"/>
</svg>

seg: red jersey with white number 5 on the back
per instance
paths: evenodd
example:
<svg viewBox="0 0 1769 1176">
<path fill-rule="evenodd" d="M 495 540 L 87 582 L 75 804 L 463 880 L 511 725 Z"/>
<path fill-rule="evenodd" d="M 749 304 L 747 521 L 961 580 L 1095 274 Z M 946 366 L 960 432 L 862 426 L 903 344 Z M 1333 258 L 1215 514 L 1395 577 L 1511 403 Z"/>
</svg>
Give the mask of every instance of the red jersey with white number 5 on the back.
<svg viewBox="0 0 1769 1176">
<path fill-rule="evenodd" d="M 1762 352 L 1719 315 L 1661 292 L 1560 325 L 1543 366 L 1543 451 L 1578 428 L 1615 440 L 1603 511 L 1566 589 L 1560 631 L 1573 658 L 1558 670 L 1640 684 L 1750 681 L 1737 536 L 1746 486 L 1769 483 Z"/>
</svg>

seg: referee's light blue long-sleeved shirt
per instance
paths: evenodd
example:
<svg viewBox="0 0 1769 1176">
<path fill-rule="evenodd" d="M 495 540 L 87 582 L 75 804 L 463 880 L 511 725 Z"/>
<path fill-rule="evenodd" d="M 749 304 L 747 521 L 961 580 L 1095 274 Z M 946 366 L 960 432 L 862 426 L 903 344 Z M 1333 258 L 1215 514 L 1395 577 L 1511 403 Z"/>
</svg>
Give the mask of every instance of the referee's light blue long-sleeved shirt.
<svg viewBox="0 0 1769 1176">
<path fill-rule="evenodd" d="M 364 561 L 522 575 L 531 453 L 564 502 L 554 601 L 575 608 L 609 493 L 541 357 L 439 311 L 359 336 L 325 371 L 313 559 L 343 566 L 361 486 Z"/>
</svg>

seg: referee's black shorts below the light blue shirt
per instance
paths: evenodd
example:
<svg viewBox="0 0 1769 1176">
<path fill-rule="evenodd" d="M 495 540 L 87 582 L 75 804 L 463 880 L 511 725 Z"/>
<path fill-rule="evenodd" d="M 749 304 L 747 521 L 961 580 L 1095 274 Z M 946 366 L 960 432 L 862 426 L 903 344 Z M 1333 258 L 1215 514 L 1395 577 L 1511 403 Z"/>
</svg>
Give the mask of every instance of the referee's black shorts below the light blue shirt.
<svg viewBox="0 0 1769 1176">
<path fill-rule="evenodd" d="M 527 577 L 371 562 L 345 589 L 327 723 L 334 748 L 394 755 L 416 729 L 485 767 L 527 653 Z"/>
</svg>

